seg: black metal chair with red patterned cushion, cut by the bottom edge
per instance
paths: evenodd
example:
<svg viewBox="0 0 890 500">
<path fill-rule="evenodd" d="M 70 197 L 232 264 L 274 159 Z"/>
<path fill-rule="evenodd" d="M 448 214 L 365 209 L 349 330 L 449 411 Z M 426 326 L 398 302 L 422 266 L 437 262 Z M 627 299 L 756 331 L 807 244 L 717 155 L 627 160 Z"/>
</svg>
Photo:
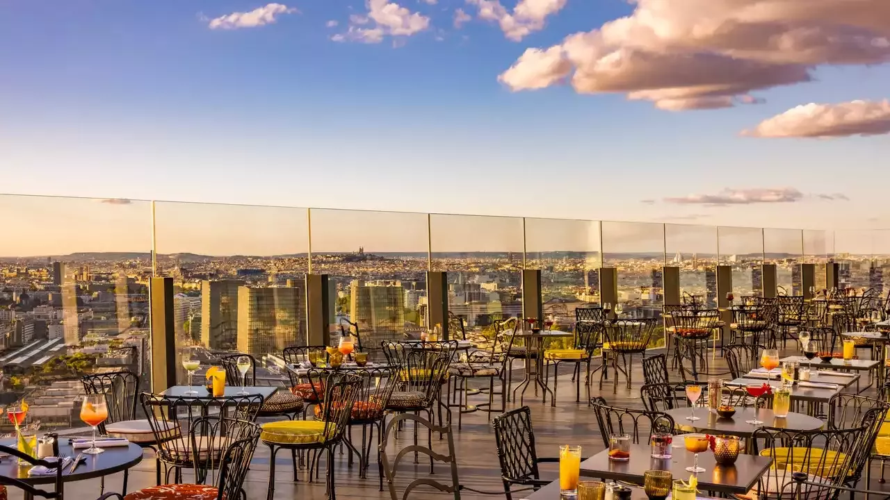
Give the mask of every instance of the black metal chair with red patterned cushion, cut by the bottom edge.
<svg viewBox="0 0 890 500">
<path fill-rule="evenodd" d="M 244 480 L 254 456 L 260 427 L 253 422 L 204 416 L 191 423 L 192 462 L 208 466 L 196 471 L 195 483 L 165 484 L 134 491 L 126 496 L 111 493 L 103 498 L 121 500 L 226 500 L 247 498 Z M 198 437 L 199 436 L 199 437 Z M 220 442 L 218 455 L 203 456 L 201 440 Z"/>
</svg>

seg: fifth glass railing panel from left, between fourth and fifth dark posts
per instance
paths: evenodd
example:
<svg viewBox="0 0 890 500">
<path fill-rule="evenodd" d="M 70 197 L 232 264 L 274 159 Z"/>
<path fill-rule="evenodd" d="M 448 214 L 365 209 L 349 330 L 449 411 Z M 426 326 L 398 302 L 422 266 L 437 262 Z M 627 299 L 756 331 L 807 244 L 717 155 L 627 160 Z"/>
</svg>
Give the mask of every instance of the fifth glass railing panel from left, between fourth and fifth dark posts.
<svg viewBox="0 0 890 500">
<path fill-rule="evenodd" d="M 599 222 L 525 220 L 525 268 L 541 270 L 544 315 L 558 326 L 569 327 L 579 305 L 599 302 L 601 265 Z"/>
</svg>

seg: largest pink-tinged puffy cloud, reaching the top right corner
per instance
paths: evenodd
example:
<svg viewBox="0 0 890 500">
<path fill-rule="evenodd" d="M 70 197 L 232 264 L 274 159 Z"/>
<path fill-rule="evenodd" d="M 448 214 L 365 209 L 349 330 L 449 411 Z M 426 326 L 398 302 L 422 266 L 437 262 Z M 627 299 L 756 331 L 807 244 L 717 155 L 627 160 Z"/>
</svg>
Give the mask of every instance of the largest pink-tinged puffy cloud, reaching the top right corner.
<svg viewBox="0 0 890 500">
<path fill-rule="evenodd" d="M 808 82 L 816 66 L 890 61 L 887 0 L 634 3 L 627 17 L 528 49 L 499 79 L 514 91 L 568 81 L 578 93 L 625 93 L 660 109 L 715 109 Z M 498 18 L 496 6 L 486 12 Z"/>
</svg>

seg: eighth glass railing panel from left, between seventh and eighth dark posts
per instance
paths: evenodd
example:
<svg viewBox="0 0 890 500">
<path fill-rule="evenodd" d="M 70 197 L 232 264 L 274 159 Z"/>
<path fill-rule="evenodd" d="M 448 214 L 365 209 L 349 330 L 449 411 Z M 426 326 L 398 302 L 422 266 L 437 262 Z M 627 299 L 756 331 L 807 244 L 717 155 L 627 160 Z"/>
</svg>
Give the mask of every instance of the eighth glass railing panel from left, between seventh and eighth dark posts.
<svg viewBox="0 0 890 500">
<path fill-rule="evenodd" d="M 764 231 L 758 228 L 717 228 L 720 265 L 732 266 L 732 292 L 759 296 L 764 290 Z"/>
</svg>

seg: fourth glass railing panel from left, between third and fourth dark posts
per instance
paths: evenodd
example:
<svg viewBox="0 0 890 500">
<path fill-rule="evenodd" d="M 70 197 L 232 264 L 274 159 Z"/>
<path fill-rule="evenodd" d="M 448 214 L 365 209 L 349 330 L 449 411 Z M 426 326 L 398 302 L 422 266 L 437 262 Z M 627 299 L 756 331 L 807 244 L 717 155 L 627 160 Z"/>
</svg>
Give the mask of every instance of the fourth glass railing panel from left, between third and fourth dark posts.
<svg viewBox="0 0 890 500">
<path fill-rule="evenodd" d="M 449 312 L 469 330 L 522 315 L 522 218 L 430 215 L 432 270 L 448 272 Z"/>
</svg>

